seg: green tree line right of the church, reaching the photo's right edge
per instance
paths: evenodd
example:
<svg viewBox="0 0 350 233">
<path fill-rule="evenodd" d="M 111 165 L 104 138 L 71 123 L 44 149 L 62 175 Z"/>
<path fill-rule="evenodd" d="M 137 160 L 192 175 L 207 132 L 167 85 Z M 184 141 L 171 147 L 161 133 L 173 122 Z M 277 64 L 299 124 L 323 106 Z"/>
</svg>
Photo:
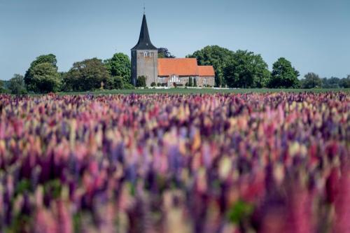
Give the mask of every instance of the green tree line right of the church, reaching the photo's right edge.
<svg viewBox="0 0 350 233">
<path fill-rule="evenodd" d="M 212 45 L 195 51 L 186 57 L 197 58 L 199 65 L 211 65 L 215 70 L 216 87 L 236 88 L 349 88 L 350 75 L 346 78 L 320 78 L 307 73 L 298 79 L 299 71 L 291 62 L 280 57 L 269 71 L 261 55 L 247 50 L 236 52 Z"/>
</svg>

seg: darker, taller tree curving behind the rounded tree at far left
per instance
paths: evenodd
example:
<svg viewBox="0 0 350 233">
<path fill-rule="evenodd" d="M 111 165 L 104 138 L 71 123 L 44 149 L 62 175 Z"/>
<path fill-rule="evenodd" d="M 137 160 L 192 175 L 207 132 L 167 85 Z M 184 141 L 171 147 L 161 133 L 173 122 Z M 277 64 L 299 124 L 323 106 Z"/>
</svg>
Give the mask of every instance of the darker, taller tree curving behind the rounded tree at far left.
<svg viewBox="0 0 350 233">
<path fill-rule="evenodd" d="M 38 87 L 36 86 L 37 83 L 34 81 L 32 71 L 34 70 L 35 66 L 43 63 L 51 64 L 57 71 L 57 59 L 55 55 L 49 54 L 36 57 L 36 59 L 31 62 L 29 69 L 25 73 L 25 85 L 27 86 L 28 91 L 38 92 Z"/>
</svg>

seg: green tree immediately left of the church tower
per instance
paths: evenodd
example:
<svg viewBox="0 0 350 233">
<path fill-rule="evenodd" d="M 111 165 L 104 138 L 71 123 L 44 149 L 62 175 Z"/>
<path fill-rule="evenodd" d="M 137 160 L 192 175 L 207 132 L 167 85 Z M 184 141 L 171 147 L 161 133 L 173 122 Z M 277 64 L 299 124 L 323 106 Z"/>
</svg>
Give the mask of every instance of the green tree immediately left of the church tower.
<svg viewBox="0 0 350 233">
<path fill-rule="evenodd" d="M 104 64 L 111 76 L 122 77 L 123 83 L 132 83 L 129 56 L 119 52 L 113 55 L 111 59 L 104 60 Z"/>
</svg>

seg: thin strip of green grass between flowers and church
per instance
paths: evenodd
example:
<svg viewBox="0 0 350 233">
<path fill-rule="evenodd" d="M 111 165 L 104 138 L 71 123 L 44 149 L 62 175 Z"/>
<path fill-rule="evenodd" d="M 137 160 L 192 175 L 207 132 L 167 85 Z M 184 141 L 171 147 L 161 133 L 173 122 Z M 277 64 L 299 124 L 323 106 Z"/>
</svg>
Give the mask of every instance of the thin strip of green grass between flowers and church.
<svg viewBox="0 0 350 233">
<path fill-rule="evenodd" d="M 135 89 L 135 90 L 98 90 L 94 92 L 60 92 L 59 94 L 215 94 L 215 93 L 267 93 L 267 92 L 350 92 L 346 89 L 225 89 L 216 90 L 211 88 L 203 89 Z"/>
</svg>

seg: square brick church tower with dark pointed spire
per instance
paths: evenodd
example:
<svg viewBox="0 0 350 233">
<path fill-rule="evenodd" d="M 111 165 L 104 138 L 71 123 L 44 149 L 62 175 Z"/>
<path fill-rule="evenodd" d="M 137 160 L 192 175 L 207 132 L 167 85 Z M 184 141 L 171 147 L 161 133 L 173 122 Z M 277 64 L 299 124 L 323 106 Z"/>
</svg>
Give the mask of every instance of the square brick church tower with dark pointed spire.
<svg viewBox="0 0 350 233">
<path fill-rule="evenodd" d="M 142 20 L 139 42 L 131 49 L 132 83 L 137 84 L 139 76 L 146 77 L 146 85 L 158 83 L 158 49 L 151 43 L 146 15 Z"/>
</svg>

